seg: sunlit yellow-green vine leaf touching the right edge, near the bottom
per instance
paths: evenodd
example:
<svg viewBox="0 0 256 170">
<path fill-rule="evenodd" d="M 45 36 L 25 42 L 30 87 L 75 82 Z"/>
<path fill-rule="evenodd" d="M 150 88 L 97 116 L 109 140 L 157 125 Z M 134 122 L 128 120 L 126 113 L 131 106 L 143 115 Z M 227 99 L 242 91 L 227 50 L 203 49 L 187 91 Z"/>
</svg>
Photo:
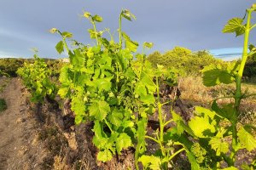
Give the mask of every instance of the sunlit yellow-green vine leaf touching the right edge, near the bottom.
<svg viewBox="0 0 256 170">
<path fill-rule="evenodd" d="M 248 133 L 244 127 L 241 127 L 237 136 L 241 145 L 243 145 L 248 151 L 252 151 L 256 148 L 256 139 L 254 139 L 253 135 Z"/>
</svg>

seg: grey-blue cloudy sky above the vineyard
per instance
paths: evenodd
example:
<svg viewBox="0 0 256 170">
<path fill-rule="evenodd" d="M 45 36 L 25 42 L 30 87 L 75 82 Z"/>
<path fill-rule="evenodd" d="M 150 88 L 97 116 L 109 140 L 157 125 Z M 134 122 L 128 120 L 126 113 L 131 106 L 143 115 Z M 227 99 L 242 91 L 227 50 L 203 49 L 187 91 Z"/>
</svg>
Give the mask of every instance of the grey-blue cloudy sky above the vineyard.
<svg viewBox="0 0 256 170">
<path fill-rule="evenodd" d="M 154 42 L 150 52 L 166 51 L 180 46 L 192 51 L 210 50 L 220 58 L 241 54 L 243 37 L 223 34 L 228 20 L 243 17 L 253 1 L 246 0 L 1 0 L 0 57 L 32 57 L 38 48 L 40 57 L 61 58 L 55 44 L 61 40 L 49 33 L 55 27 L 70 31 L 74 39 L 94 44 L 87 32 L 90 23 L 81 17 L 83 11 L 99 14 L 103 22 L 97 29 L 118 29 L 120 11 L 127 8 L 137 20 L 124 20 L 123 31 L 132 40 Z M 255 35 L 255 34 L 253 34 Z M 253 37 L 252 35 L 252 37 Z M 253 39 L 253 38 L 251 38 Z M 139 51 L 142 48 L 138 49 Z M 231 57 L 231 58 L 230 58 Z"/>
</svg>

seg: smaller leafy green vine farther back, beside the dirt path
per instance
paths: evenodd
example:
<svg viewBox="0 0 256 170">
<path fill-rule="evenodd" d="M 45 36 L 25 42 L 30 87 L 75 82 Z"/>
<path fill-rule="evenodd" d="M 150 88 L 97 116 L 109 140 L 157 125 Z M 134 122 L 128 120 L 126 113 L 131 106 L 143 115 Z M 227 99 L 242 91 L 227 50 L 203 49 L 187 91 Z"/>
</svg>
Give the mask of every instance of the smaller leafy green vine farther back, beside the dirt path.
<svg viewBox="0 0 256 170">
<path fill-rule="evenodd" d="M 25 62 L 20 67 L 17 74 L 22 78 L 26 88 L 32 93 L 32 102 L 42 102 L 46 95 L 55 97 L 55 84 L 50 81 L 51 71 L 47 67 L 44 59 L 34 55 L 34 62 Z"/>
</svg>

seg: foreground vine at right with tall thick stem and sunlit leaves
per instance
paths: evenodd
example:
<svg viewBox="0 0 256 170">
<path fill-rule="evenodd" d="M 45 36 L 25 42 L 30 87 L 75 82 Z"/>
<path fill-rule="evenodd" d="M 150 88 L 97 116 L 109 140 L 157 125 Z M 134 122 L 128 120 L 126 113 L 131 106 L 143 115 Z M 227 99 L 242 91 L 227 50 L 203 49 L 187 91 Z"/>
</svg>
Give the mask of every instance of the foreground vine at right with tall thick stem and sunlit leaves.
<svg viewBox="0 0 256 170">
<path fill-rule="evenodd" d="M 187 126 L 186 128 L 184 126 L 178 126 L 182 121 L 174 118 L 175 122 L 178 121 L 177 127 L 182 127 L 188 133 L 192 131 L 193 133 L 189 133 L 189 137 L 197 141 L 196 145 L 193 144 L 192 147 L 188 143 L 189 137 L 186 137 L 187 142 L 184 142 L 184 139 L 183 142 L 181 141 L 186 148 L 192 169 L 201 169 L 204 167 L 220 169 L 219 165 L 222 161 L 228 164 L 228 167 L 225 169 L 237 169 L 234 167 L 237 151 L 244 148 L 252 151 L 256 148 L 256 139 L 253 137 L 252 126 L 241 126 L 240 130 L 237 131 L 237 117 L 240 115 L 239 107 L 241 105 L 241 99 L 247 96 L 247 94 L 241 94 L 241 77 L 247 56 L 255 54 L 253 52 L 253 46 L 250 46 L 251 52 L 247 54 L 249 31 L 256 26 L 251 26 L 250 24 L 253 11 L 255 11 L 255 8 L 247 9 L 247 24 L 242 24 L 244 19 L 234 18 L 228 21 L 223 30 L 224 33 L 235 32 L 236 36 L 245 34 L 241 61 L 224 65 L 208 65 L 202 70 L 203 82 L 208 87 L 218 85 L 219 83 L 228 84 L 236 82 L 236 91 L 233 95 L 226 97 L 233 98 L 234 103 L 230 102 L 230 104 L 219 105 L 217 102 L 218 99 L 215 99 L 212 102 L 212 111 L 202 107 L 196 107 L 195 116 L 188 122 L 188 126 L 185 125 Z M 226 123 L 224 124 L 223 122 Z M 183 130 L 179 131 L 182 132 Z M 232 144 L 228 142 L 229 139 L 232 139 Z M 207 159 L 203 159 L 202 156 Z M 252 162 L 252 165 L 247 165 L 244 168 L 252 169 L 253 166 Z"/>
</svg>

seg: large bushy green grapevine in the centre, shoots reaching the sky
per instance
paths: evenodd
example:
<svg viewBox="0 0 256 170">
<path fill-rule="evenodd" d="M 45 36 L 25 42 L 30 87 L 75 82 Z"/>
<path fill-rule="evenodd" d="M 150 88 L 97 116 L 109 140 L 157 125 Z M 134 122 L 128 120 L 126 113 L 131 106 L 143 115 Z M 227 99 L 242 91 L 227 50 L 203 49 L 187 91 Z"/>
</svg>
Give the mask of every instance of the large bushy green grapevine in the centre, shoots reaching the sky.
<svg viewBox="0 0 256 170">
<path fill-rule="evenodd" d="M 120 28 L 119 42 L 108 41 L 99 33 L 103 31 L 96 31 L 96 22 L 102 18 L 87 12 L 84 17 L 93 26 L 88 31 L 90 37 L 96 39 L 96 46 L 77 42 L 79 45 L 70 50 L 66 42 L 70 37 L 57 29 L 51 31 L 62 37 L 56 50 L 62 53 L 66 49 L 70 60 L 61 68 L 58 94 L 72 100 L 71 109 L 75 112 L 77 124 L 88 120 L 95 122 L 93 143 L 99 149 L 99 161 L 111 160 L 113 155 L 133 146 L 136 139 L 138 161 L 138 156 L 146 150 L 144 138 L 148 114 L 152 115 L 157 107 L 154 93 L 160 93 L 160 82 L 170 86 L 176 84 L 177 76 L 161 65 L 154 68 L 145 54 L 134 56 L 138 43 Z M 135 18 L 128 10 L 123 10 L 119 17 L 119 22 L 122 18 Z M 144 48 L 152 46 L 151 42 L 144 43 Z M 163 139 L 163 124 L 161 126 Z M 166 153 L 171 153 L 171 150 L 166 150 Z"/>
</svg>

